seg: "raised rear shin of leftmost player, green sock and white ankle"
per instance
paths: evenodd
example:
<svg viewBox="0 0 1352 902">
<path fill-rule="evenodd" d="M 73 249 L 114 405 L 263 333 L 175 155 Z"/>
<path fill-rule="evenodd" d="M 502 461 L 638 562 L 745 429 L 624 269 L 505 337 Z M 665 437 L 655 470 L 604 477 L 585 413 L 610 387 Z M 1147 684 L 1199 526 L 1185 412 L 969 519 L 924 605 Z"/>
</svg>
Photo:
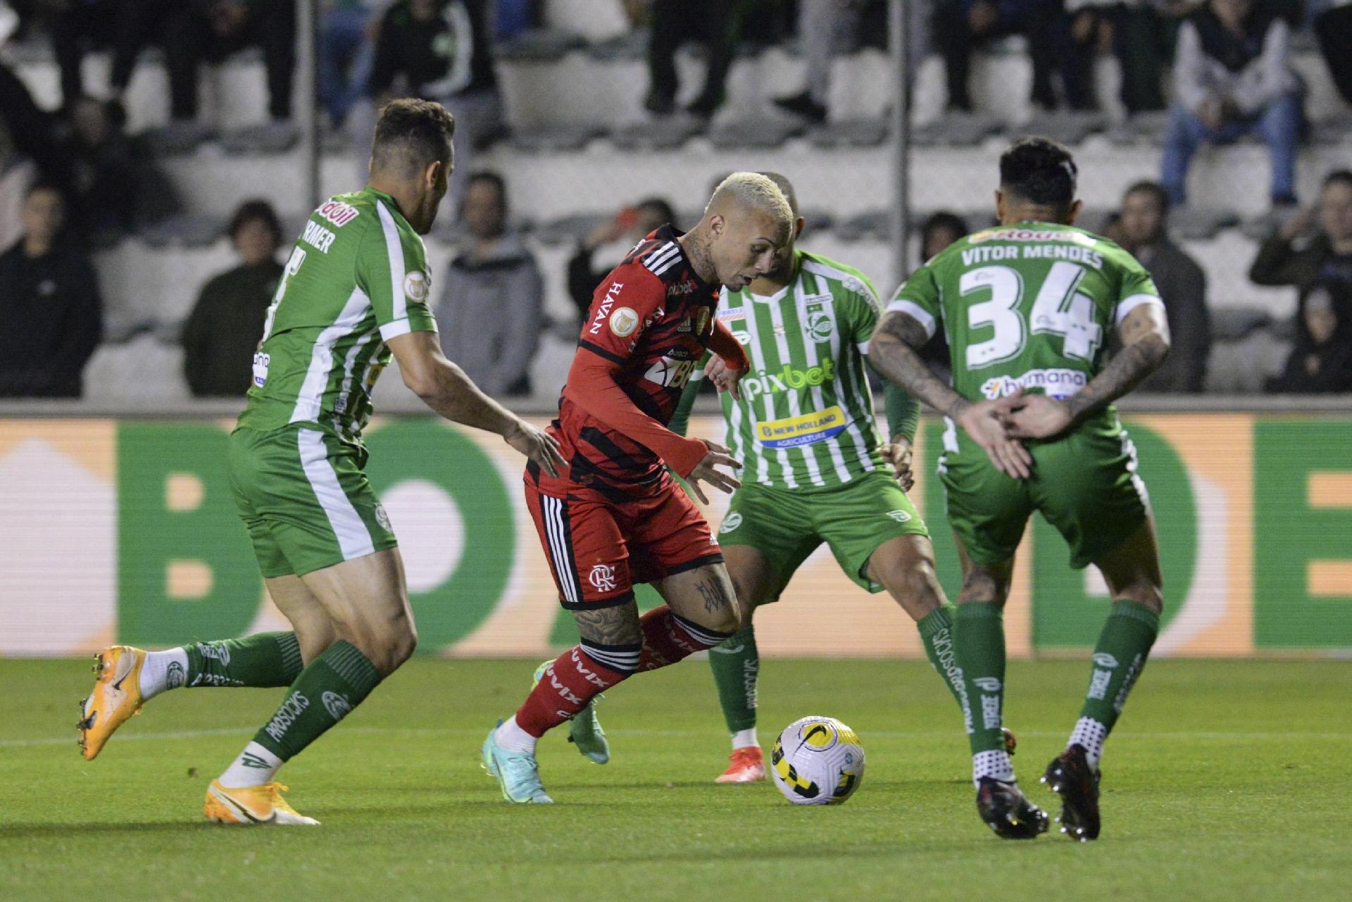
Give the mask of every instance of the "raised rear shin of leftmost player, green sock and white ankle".
<svg viewBox="0 0 1352 902">
<path fill-rule="evenodd" d="M 193 642 L 149 652 L 141 669 L 141 694 L 197 686 L 291 686 L 301 671 L 295 633 L 256 633 L 219 642 Z"/>
</svg>

